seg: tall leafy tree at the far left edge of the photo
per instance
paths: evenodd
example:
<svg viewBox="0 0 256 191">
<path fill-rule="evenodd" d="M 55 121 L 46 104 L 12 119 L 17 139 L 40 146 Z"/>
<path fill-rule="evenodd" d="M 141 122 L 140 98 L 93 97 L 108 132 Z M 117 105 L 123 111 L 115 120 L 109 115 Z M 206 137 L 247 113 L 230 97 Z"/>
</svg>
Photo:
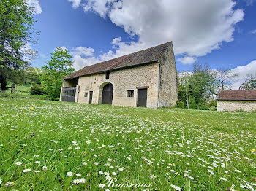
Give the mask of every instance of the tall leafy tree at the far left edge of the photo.
<svg viewBox="0 0 256 191">
<path fill-rule="evenodd" d="M 0 83 L 7 89 L 7 80 L 15 81 L 18 69 L 29 64 L 36 54 L 29 47 L 34 42 L 33 9 L 24 0 L 0 1 Z"/>
</svg>

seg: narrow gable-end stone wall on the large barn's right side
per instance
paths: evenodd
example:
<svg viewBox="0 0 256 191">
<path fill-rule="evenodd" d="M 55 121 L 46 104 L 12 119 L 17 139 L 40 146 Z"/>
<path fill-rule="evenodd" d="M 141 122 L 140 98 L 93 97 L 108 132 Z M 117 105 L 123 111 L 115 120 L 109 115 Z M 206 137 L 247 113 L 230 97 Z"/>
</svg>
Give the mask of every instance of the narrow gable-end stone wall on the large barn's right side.
<svg viewBox="0 0 256 191">
<path fill-rule="evenodd" d="M 174 106 L 178 99 L 178 77 L 176 63 L 173 53 L 173 46 L 167 50 L 159 59 L 160 63 L 160 87 L 159 87 L 159 107 Z"/>
</svg>

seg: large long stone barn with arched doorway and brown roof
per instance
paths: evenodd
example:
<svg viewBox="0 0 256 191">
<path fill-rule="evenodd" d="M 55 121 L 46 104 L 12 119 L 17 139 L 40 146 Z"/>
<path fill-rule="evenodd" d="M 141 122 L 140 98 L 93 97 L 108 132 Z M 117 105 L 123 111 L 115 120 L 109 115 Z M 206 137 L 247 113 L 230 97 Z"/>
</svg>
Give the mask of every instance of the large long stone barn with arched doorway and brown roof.
<svg viewBox="0 0 256 191">
<path fill-rule="evenodd" d="M 64 78 L 60 101 L 157 108 L 174 106 L 177 71 L 172 42 L 86 66 Z"/>
</svg>

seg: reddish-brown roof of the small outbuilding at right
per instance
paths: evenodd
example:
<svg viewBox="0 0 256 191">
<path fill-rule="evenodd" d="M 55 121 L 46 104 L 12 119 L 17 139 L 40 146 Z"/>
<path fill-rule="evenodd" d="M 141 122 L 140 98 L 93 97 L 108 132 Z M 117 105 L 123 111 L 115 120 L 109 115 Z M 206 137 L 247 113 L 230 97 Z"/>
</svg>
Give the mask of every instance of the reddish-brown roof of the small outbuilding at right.
<svg viewBox="0 0 256 191">
<path fill-rule="evenodd" d="M 221 91 L 217 100 L 256 101 L 256 90 L 225 90 Z"/>
</svg>

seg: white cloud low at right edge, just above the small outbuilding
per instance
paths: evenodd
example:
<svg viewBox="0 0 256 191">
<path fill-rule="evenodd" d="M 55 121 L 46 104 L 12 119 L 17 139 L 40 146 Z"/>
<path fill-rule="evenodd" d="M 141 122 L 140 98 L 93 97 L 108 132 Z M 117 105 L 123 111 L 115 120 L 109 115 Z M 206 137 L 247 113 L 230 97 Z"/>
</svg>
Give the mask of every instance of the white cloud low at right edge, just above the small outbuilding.
<svg viewBox="0 0 256 191">
<path fill-rule="evenodd" d="M 233 90 L 238 90 L 240 85 L 250 76 L 256 77 L 256 60 L 248 63 L 246 66 L 238 66 L 232 69 L 231 73 L 238 74 L 237 80 L 232 85 Z"/>
</svg>

